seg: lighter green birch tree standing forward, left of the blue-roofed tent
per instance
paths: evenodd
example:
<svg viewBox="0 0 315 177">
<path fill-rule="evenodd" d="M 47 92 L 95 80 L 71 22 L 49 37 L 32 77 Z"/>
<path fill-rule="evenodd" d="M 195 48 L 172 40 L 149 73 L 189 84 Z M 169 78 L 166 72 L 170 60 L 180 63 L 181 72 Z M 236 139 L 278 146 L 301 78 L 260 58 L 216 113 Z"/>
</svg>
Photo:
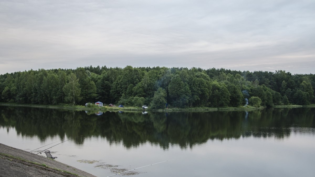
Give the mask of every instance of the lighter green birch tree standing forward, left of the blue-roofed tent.
<svg viewBox="0 0 315 177">
<path fill-rule="evenodd" d="M 68 103 L 71 103 L 73 101 L 73 104 L 76 103 L 76 101 L 80 101 L 82 97 L 80 97 L 80 84 L 79 79 L 77 79 L 76 75 L 71 73 L 68 76 L 68 83 L 63 87 L 63 92 L 66 94 L 65 100 Z"/>
</svg>

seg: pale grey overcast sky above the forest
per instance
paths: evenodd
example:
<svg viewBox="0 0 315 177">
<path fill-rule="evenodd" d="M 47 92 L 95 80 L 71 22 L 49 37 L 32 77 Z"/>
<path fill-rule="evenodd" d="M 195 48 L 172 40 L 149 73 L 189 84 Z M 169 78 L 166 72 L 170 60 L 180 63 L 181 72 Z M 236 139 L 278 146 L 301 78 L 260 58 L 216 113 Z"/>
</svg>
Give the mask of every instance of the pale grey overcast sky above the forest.
<svg viewBox="0 0 315 177">
<path fill-rule="evenodd" d="M 0 0 L 0 74 L 90 65 L 315 73 L 315 1 Z"/>
</svg>

